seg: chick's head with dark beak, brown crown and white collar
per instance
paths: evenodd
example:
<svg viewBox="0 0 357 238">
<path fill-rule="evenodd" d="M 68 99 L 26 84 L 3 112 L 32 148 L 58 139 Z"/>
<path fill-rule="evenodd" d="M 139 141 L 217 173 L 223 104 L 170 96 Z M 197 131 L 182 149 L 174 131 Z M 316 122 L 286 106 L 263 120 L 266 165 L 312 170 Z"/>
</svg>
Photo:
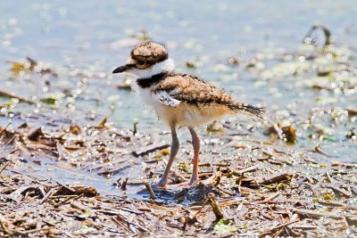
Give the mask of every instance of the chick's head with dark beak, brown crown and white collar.
<svg viewBox="0 0 357 238">
<path fill-rule="evenodd" d="M 162 73 L 172 71 L 174 62 L 169 58 L 169 53 L 164 45 L 145 41 L 138 44 L 131 51 L 128 61 L 112 71 L 113 74 L 128 72 L 137 78 L 151 78 Z"/>
</svg>

